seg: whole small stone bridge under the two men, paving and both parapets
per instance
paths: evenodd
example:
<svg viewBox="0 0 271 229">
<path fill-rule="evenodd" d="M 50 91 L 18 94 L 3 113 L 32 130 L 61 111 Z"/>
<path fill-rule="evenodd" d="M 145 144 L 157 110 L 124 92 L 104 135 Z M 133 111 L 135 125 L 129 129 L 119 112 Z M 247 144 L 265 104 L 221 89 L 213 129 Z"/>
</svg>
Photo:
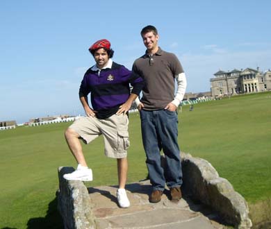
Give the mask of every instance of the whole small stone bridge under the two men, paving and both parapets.
<svg viewBox="0 0 271 229">
<path fill-rule="evenodd" d="M 170 190 L 165 189 L 161 202 L 149 203 L 151 185 L 149 180 L 142 180 L 126 185 L 131 207 L 125 209 L 117 205 L 117 187 L 87 189 L 81 181 L 63 178 L 63 174 L 74 170 L 72 167 L 60 167 L 58 210 L 65 228 L 251 228 L 247 203 L 229 181 L 220 178 L 206 160 L 181 156 L 181 201 L 172 203 Z"/>
</svg>

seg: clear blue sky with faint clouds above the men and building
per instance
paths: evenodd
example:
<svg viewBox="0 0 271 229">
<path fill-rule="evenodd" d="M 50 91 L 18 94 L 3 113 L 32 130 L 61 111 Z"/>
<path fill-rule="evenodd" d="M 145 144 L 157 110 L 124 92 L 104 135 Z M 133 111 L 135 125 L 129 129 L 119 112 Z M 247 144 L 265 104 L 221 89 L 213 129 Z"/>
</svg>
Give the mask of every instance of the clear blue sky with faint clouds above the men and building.
<svg viewBox="0 0 271 229">
<path fill-rule="evenodd" d="M 210 90 L 219 69 L 271 69 L 271 1 L 0 0 L 0 121 L 84 114 L 79 85 L 94 65 L 88 52 L 110 40 L 129 69 L 145 52 L 141 28 L 176 54 L 187 92 Z"/>
</svg>

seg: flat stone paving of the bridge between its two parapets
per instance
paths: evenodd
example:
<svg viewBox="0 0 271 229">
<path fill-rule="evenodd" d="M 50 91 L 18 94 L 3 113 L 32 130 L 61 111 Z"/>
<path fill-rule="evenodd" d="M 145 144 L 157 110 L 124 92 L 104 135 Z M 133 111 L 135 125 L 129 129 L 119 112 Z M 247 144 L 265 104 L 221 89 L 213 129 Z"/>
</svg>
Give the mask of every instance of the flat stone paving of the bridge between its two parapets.
<svg viewBox="0 0 271 229">
<path fill-rule="evenodd" d="M 224 228 L 208 219 L 198 205 L 182 198 L 174 203 L 170 201 L 169 190 L 165 190 L 159 203 L 149 203 L 151 185 L 149 180 L 126 185 L 131 206 L 120 208 L 116 198 L 117 187 L 88 187 L 92 212 L 97 228 Z"/>
</svg>

